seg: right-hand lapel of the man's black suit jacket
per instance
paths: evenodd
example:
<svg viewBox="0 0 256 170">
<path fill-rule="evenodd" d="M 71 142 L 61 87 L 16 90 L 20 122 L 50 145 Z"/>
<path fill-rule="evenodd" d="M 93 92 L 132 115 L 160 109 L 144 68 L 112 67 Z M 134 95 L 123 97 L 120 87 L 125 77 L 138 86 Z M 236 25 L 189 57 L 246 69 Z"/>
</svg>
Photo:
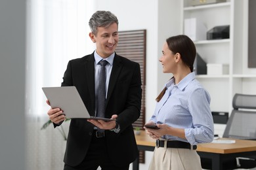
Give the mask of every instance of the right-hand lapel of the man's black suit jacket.
<svg viewBox="0 0 256 170">
<path fill-rule="evenodd" d="M 119 56 L 115 56 L 114 62 L 113 62 L 113 68 L 110 75 L 110 82 L 108 84 L 108 95 L 106 99 L 106 105 L 108 105 L 108 101 L 110 99 L 110 96 L 114 90 L 115 84 L 117 82 L 117 78 L 119 74 L 121 73 L 121 68 L 123 64 L 121 63 L 121 58 Z"/>
</svg>

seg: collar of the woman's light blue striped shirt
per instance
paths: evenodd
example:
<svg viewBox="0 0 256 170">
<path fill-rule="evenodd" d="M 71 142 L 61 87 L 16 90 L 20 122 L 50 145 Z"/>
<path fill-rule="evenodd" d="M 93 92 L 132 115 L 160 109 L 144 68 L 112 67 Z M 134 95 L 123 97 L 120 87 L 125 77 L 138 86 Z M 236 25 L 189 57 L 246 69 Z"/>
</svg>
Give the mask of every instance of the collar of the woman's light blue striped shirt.
<svg viewBox="0 0 256 170">
<path fill-rule="evenodd" d="M 183 90 L 184 88 L 186 88 L 186 86 L 188 86 L 189 82 L 191 82 L 195 78 L 196 78 L 196 75 L 195 75 L 194 72 L 189 73 L 178 84 L 176 84 L 176 86 L 177 86 L 177 88 L 179 88 L 179 90 Z M 167 82 L 165 84 L 166 88 L 169 88 L 171 86 L 175 86 L 175 78 L 174 78 L 174 76 L 169 80 L 169 82 Z"/>
</svg>

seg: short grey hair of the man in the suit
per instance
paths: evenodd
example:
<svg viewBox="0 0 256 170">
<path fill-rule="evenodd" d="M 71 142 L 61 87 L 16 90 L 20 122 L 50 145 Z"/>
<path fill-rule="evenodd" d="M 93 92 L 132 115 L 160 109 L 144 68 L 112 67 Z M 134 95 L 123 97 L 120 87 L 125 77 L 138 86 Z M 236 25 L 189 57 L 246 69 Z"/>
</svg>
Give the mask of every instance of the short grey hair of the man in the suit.
<svg viewBox="0 0 256 170">
<path fill-rule="evenodd" d="M 89 27 L 94 35 L 98 33 L 98 27 L 108 27 L 109 25 L 116 23 L 118 26 L 117 17 L 110 11 L 98 10 L 89 20 Z"/>
</svg>

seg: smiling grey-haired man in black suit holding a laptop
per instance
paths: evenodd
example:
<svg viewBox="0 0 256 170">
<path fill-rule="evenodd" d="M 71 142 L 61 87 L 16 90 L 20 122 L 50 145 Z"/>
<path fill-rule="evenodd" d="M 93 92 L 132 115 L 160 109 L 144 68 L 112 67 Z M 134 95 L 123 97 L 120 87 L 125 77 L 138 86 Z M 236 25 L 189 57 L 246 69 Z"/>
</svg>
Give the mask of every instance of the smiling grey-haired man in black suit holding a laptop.
<svg viewBox="0 0 256 170">
<path fill-rule="evenodd" d="M 109 11 L 97 11 L 89 21 L 89 37 L 96 43 L 93 54 L 72 59 L 64 73 L 62 86 L 75 86 L 91 116 L 97 115 L 99 61 L 106 67 L 105 118 L 116 121 L 72 119 L 68 134 L 64 170 L 128 170 L 138 156 L 133 122 L 140 116 L 140 65 L 118 56 L 118 20 Z M 50 105 L 49 101 L 47 103 Z M 65 120 L 61 108 L 47 114 L 60 126 Z"/>
</svg>

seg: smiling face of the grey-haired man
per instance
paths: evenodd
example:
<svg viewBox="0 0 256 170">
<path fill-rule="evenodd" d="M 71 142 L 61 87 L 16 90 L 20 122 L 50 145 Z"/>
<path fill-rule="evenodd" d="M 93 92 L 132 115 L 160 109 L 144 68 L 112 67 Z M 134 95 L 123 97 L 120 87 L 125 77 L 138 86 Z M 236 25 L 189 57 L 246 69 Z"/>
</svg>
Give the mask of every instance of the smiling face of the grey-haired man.
<svg viewBox="0 0 256 170">
<path fill-rule="evenodd" d="M 98 33 L 90 33 L 91 40 L 96 43 L 96 52 L 102 58 L 108 58 L 115 50 L 118 42 L 118 27 L 116 23 L 108 27 L 98 27 Z"/>
</svg>

